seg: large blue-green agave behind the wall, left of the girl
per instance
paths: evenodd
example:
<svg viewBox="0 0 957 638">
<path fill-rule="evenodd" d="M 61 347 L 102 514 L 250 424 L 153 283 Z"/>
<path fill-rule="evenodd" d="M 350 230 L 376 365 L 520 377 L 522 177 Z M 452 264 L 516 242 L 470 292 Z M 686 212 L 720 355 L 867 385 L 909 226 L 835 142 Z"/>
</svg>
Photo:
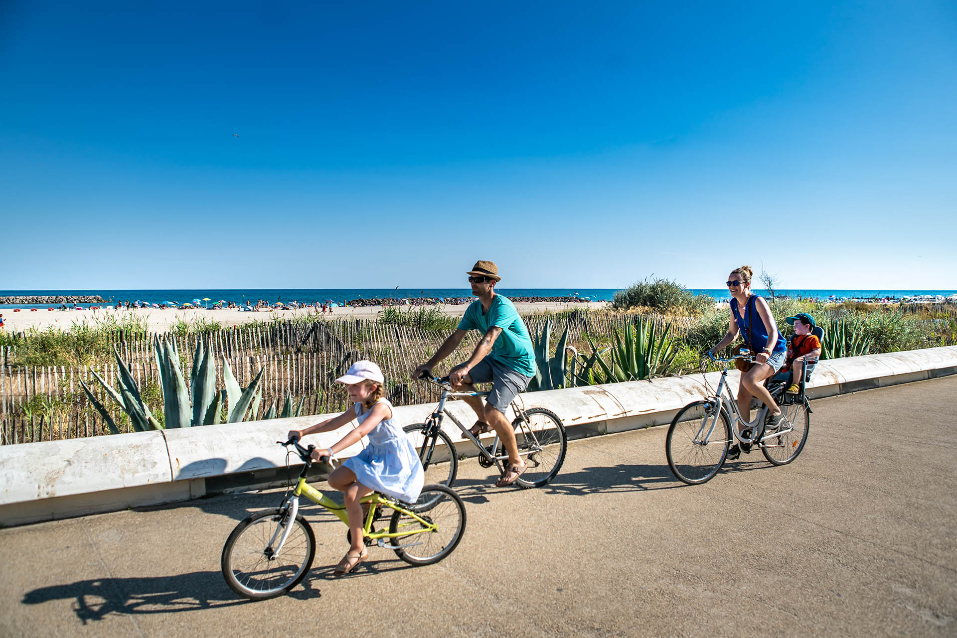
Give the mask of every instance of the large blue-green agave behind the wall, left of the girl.
<svg viewBox="0 0 957 638">
<path fill-rule="evenodd" d="M 212 350 L 207 348 L 203 340 L 200 339 L 196 341 L 196 352 L 193 357 L 192 372 L 189 375 L 188 390 L 175 343 L 166 338 L 156 338 L 153 341 L 153 354 L 156 356 L 156 363 L 160 371 L 160 387 L 163 392 L 163 425 L 153 417 L 149 407 L 143 401 L 129 368 L 122 362 L 120 353 L 117 352 L 115 347 L 113 355 L 120 367 L 120 391 L 118 392 L 113 386 L 107 384 L 99 374 L 93 373 L 106 393 L 129 416 L 133 429 L 147 431 L 150 429 L 191 428 L 222 423 L 224 404 L 228 407 L 228 410 L 225 411 L 227 423 L 245 421 L 251 407 L 252 414 L 256 414 L 261 398 L 259 383 L 262 380 L 265 368 L 259 370 L 252 384 L 242 388 L 236 383 L 233 370 L 224 357 L 223 379 L 226 382 L 226 387 L 217 390 L 216 368 L 212 362 Z M 120 430 L 90 390 L 90 387 L 82 381 L 79 383 L 90 399 L 91 405 L 100 412 L 106 427 L 113 433 L 118 433 Z"/>
</svg>

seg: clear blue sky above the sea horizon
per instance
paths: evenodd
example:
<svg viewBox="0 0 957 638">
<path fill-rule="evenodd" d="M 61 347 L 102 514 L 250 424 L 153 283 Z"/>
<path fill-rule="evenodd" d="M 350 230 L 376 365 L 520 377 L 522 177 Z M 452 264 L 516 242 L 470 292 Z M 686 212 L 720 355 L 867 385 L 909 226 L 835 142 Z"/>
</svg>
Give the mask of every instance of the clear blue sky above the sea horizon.
<svg viewBox="0 0 957 638">
<path fill-rule="evenodd" d="M 945 1 L 8 0 L 0 288 L 954 289 L 955 77 Z"/>
</svg>

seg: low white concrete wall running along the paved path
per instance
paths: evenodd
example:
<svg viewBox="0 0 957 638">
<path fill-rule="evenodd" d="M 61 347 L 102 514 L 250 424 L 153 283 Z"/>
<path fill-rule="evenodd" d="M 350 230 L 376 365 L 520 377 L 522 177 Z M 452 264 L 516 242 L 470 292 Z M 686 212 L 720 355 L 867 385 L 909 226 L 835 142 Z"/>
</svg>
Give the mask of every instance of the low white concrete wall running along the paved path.
<svg viewBox="0 0 957 638">
<path fill-rule="evenodd" d="M 814 371 L 809 395 L 833 396 L 947 374 L 957 374 L 954 346 L 824 361 Z M 525 407 L 547 407 L 555 412 L 568 428 L 568 436 L 581 438 L 670 423 L 676 410 L 709 393 L 705 381 L 713 388 L 719 376 L 713 372 L 532 392 L 521 397 Z M 732 392 L 738 379 L 738 372 L 729 373 Z M 475 414 L 461 402 L 448 407 L 466 426 L 475 421 Z M 434 404 L 396 407 L 395 418 L 403 426 L 421 423 L 433 409 Z M 0 525 L 203 495 L 205 480 L 210 477 L 284 467 L 285 451 L 276 442 L 284 441 L 289 429 L 327 416 L 3 446 Z M 462 440 L 454 424 L 446 420 L 443 427 L 455 440 Z M 342 435 L 342 431 L 317 434 L 305 442 L 327 447 Z M 340 455 L 361 448 L 356 445 Z M 460 446 L 458 451 L 474 453 L 471 445 Z"/>
</svg>

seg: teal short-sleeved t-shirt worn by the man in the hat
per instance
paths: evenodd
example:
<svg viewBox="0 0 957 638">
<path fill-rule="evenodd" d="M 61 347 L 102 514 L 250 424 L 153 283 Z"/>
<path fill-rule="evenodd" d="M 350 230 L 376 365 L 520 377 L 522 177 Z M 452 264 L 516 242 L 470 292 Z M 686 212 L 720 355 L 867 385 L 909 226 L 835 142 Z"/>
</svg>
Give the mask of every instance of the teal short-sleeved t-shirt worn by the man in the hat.
<svg viewBox="0 0 957 638">
<path fill-rule="evenodd" d="M 534 377 L 535 349 L 525 322 L 510 299 L 496 295 L 487 313 L 482 313 L 481 301 L 476 299 L 458 323 L 459 330 L 478 330 L 483 335 L 492 326 L 501 328 L 499 338 L 492 345 L 492 359 L 526 377 Z"/>
</svg>

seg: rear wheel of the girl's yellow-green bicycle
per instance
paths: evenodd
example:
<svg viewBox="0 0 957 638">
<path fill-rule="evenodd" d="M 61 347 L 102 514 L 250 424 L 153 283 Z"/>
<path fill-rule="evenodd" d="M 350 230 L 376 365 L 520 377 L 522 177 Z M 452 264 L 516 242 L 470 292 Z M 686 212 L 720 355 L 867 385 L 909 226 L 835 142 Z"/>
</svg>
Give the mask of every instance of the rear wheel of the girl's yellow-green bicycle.
<svg viewBox="0 0 957 638">
<path fill-rule="evenodd" d="M 405 512 L 395 510 L 389 520 L 389 533 L 403 536 L 391 539 L 391 548 L 403 561 L 412 565 L 431 565 L 452 553 L 465 531 L 465 504 L 455 490 L 445 485 L 426 485 L 416 504 L 409 508 L 426 525 Z"/>
</svg>

